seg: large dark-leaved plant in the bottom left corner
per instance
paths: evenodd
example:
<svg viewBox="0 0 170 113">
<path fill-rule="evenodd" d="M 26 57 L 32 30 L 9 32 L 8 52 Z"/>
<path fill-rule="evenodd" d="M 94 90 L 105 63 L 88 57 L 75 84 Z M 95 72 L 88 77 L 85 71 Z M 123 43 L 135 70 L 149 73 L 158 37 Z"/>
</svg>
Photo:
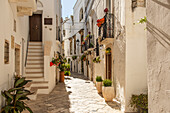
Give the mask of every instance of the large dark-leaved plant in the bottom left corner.
<svg viewBox="0 0 170 113">
<path fill-rule="evenodd" d="M 25 80 L 24 77 L 15 77 L 14 88 L 9 90 L 1 91 L 1 95 L 5 98 L 6 104 L 1 109 L 1 113 L 21 113 L 24 110 L 28 110 L 33 113 L 32 110 L 27 106 L 24 100 L 30 100 L 27 96 L 32 95 L 29 90 L 25 89 L 25 85 L 31 82 Z"/>
</svg>

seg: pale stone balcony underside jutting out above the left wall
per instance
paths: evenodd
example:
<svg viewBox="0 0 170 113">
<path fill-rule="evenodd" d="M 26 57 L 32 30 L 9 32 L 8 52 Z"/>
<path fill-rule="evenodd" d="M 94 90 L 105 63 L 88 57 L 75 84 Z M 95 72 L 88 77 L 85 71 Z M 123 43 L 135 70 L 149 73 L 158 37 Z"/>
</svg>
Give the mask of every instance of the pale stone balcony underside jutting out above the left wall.
<svg viewBox="0 0 170 113">
<path fill-rule="evenodd" d="M 14 11 L 17 10 L 17 16 L 32 16 L 37 10 L 37 0 L 9 0 Z"/>
</svg>

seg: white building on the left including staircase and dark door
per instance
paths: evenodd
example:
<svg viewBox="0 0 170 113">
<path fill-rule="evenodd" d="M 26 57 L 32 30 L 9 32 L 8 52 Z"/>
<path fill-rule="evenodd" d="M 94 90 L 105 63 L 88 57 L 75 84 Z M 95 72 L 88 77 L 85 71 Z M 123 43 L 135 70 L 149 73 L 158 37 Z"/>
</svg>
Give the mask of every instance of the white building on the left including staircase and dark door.
<svg viewBox="0 0 170 113">
<path fill-rule="evenodd" d="M 30 87 L 37 87 L 37 94 L 51 92 L 56 68 L 50 67 L 50 61 L 57 51 L 56 17 L 61 17 L 61 1 L 2 0 L 0 7 L 0 90 L 11 88 L 17 74 L 33 80 Z M 0 98 L 2 107 L 4 99 Z"/>
</svg>

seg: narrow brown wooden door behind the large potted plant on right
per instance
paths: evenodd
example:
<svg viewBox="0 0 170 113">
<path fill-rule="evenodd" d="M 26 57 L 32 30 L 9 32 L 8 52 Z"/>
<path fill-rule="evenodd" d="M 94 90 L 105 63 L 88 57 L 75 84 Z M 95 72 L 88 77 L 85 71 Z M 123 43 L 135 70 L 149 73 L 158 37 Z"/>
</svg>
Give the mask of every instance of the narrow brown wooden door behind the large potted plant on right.
<svg viewBox="0 0 170 113">
<path fill-rule="evenodd" d="M 106 55 L 106 78 L 112 79 L 112 56 L 111 54 Z"/>
</svg>

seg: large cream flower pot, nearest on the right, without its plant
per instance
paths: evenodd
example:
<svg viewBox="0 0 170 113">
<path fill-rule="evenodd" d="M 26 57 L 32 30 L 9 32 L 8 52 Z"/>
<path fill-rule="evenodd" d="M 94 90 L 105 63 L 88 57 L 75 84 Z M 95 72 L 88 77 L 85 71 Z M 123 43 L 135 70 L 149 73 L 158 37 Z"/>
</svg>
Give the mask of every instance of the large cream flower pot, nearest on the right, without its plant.
<svg viewBox="0 0 170 113">
<path fill-rule="evenodd" d="M 102 87 L 102 94 L 105 99 L 105 101 L 113 101 L 113 98 L 115 97 L 114 93 L 114 87 Z"/>
</svg>

